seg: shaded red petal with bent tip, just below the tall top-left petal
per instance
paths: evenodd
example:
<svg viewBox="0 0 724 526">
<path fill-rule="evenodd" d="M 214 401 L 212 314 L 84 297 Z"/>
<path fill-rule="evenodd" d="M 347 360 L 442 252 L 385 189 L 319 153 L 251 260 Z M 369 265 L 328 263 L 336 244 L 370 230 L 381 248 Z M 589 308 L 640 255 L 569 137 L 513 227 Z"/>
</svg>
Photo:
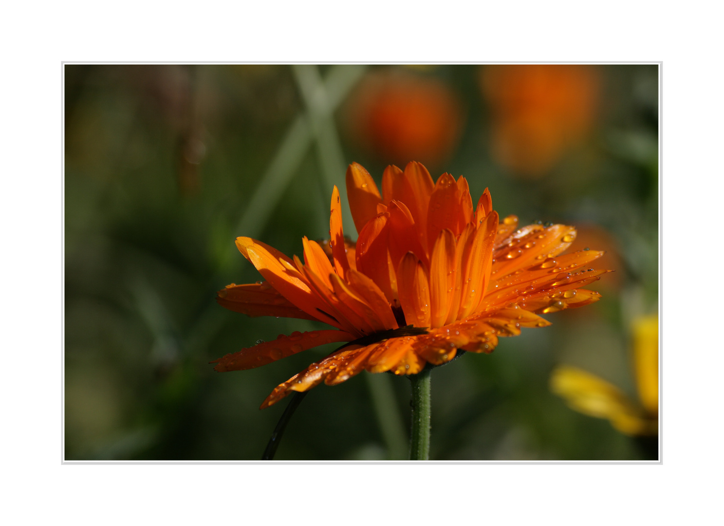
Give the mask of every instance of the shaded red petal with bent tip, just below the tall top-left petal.
<svg viewBox="0 0 724 526">
<path fill-rule="evenodd" d="M 357 239 L 357 270 L 376 283 L 392 304 L 397 298 L 397 284 L 392 283 L 388 260 L 390 214 L 378 214 L 367 222 Z"/>
</svg>

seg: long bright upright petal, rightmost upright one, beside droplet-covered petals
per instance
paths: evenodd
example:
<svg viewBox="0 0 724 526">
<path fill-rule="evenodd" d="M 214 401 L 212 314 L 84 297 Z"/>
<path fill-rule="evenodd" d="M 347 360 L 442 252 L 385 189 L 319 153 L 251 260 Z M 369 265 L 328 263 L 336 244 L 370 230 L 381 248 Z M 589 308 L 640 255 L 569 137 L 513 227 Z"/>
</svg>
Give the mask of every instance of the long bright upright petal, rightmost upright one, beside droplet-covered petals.
<svg viewBox="0 0 724 526">
<path fill-rule="evenodd" d="M 484 222 L 473 235 L 471 249 L 463 254 L 461 264 L 463 272 L 462 292 L 460 293 L 460 312 L 458 317 L 471 314 L 484 295 L 489 265 L 492 262 L 492 249 L 497 233 L 497 212 L 487 215 Z"/>
</svg>

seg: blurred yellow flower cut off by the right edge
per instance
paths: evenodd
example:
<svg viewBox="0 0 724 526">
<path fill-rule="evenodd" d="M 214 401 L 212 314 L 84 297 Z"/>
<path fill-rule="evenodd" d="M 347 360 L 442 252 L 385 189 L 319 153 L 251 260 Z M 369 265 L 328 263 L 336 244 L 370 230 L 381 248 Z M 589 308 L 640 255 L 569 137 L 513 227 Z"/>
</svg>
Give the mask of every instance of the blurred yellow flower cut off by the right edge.
<svg viewBox="0 0 724 526">
<path fill-rule="evenodd" d="M 639 391 L 637 403 L 618 387 L 596 375 L 562 365 L 553 371 L 550 388 L 571 409 L 591 417 L 607 418 L 626 435 L 656 435 L 659 420 L 659 319 L 640 317 L 633 322 L 633 369 Z"/>
</svg>

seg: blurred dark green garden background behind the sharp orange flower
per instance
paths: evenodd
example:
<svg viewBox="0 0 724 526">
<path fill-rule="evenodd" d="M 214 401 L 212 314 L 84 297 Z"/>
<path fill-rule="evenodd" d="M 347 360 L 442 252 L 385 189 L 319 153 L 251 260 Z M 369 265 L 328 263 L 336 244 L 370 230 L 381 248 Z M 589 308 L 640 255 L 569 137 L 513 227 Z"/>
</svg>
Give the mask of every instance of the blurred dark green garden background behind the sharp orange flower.
<svg viewBox="0 0 724 526">
<path fill-rule="evenodd" d="M 576 225 L 573 248 L 605 249 L 596 267 L 615 270 L 589 286 L 596 304 L 434 370 L 431 459 L 657 458 L 655 438 L 549 388 L 565 363 L 636 399 L 631 322 L 658 302 L 657 65 L 77 64 L 64 96 L 67 460 L 259 459 L 287 404 L 261 401 L 330 348 L 213 371 L 324 327 L 216 304 L 259 279 L 235 237 L 299 255 L 303 235 L 327 235 L 346 164 L 379 184 L 410 160 L 465 175 L 473 201 L 489 187 L 501 216 Z M 409 401 L 405 377 L 321 385 L 276 458 L 405 458 Z"/>
</svg>

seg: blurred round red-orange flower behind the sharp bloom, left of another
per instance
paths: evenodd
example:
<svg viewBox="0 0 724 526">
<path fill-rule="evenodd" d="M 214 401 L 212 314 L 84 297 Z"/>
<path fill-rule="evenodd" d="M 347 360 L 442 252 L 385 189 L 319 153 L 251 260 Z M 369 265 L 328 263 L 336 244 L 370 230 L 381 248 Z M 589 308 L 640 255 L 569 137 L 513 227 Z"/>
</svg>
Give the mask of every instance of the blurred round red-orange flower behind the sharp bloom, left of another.
<svg viewBox="0 0 724 526">
<path fill-rule="evenodd" d="M 450 158 L 463 124 L 455 93 L 437 78 L 400 70 L 368 75 L 350 97 L 348 131 L 384 162 L 437 167 Z"/>
</svg>

